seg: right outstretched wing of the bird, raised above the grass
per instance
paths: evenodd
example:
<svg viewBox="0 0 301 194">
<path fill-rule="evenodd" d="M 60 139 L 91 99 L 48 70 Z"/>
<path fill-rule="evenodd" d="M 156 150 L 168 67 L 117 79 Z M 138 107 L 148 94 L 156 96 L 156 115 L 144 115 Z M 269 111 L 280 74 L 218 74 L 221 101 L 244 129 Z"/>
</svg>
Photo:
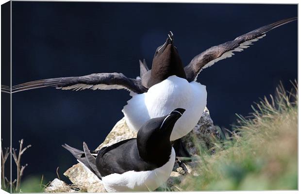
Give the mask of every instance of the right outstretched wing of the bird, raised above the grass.
<svg viewBox="0 0 301 194">
<path fill-rule="evenodd" d="M 197 79 L 198 74 L 201 72 L 202 69 L 207 68 L 219 60 L 226 59 L 228 57 L 232 57 L 234 55 L 233 52 L 240 52 L 252 45 L 252 42 L 259 40 L 266 36 L 266 32 L 277 28 L 281 25 L 289 23 L 291 21 L 297 20 L 297 17 L 284 19 L 241 36 L 238 36 L 232 41 L 225 42 L 223 44 L 211 47 L 203 51 L 201 54 L 195 56 L 191 62 L 185 66 L 185 73 L 188 81 L 194 81 Z"/>
</svg>

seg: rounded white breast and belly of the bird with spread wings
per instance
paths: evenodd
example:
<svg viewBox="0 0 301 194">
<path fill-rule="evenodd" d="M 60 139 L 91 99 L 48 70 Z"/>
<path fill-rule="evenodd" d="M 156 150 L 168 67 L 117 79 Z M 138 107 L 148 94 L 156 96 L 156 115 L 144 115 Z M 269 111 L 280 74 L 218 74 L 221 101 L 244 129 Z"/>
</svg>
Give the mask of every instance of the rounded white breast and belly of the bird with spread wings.
<svg viewBox="0 0 301 194">
<path fill-rule="evenodd" d="M 151 118 L 164 116 L 176 108 L 186 109 L 172 130 L 170 140 L 174 141 L 197 125 L 206 104 L 206 86 L 170 76 L 153 85 L 148 92 L 135 95 L 122 112 L 129 128 L 138 131 Z"/>
</svg>

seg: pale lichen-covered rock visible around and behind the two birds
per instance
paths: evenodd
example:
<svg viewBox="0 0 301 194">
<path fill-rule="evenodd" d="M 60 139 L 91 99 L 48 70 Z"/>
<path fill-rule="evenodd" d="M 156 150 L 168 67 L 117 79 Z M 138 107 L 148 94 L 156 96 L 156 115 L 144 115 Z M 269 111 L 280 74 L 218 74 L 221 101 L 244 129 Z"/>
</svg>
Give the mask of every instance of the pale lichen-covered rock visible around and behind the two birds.
<svg viewBox="0 0 301 194">
<path fill-rule="evenodd" d="M 100 146 L 98 146 L 95 150 L 100 150 L 104 146 L 111 146 L 119 141 L 135 138 L 137 135 L 136 132 L 130 130 L 126 124 L 125 118 L 119 120 L 111 132 L 107 135 L 106 139 L 103 141 Z M 195 146 L 195 142 L 201 144 L 202 146 L 210 147 L 211 145 L 211 137 L 215 136 L 219 138 L 219 134 L 217 132 L 216 127 L 213 125 L 213 121 L 210 117 L 209 110 L 205 108 L 203 115 L 201 116 L 198 124 L 195 128 L 190 131 L 186 136 L 182 138 L 184 146 L 188 150 L 191 155 L 197 155 L 198 150 L 197 146 Z M 180 165 L 179 165 L 180 163 Z M 165 186 L 169 188 L 173 188 L 173 185 L 180 183 L 186 174 L 193 174 L 194 176 L 199 176 L 194 172 L 193 167 L 197 165 L 197 162 L 175 162 L 173 171 L 171 172 L 170 177 L 167 180 Z M 87 172 L 84 170 L 83 166 L 78 163 L 70 167 L 64 175 L 70 179 L 70 181 L 80 189 L 80 192 L 90 192 L 90 193 L 105 193 L 104 186 L 101 184 L 99 179 L 91 172 Z M 55 181 L 55 184 L 52 182 Z M 59 192 L 59 184 L 56 182 L 61 180 L 54 179 L 50 187 L 47 187 L 45 191 L 47 192 Z M 61 181 L 63 182 L 63 181 Z M 65 182 L 61 184 L 66 184 Z M 67 184 L 66 184 L 67 185 Z M 68 185 L 67 185 L 68 186 Z M 55 189 L 57 187 L 57 189 Z M 70 188 L 71 189 L 71 188 Z M 71 189 L 72 190 L 72 189 Z M 72 190 L 71 192 L 76 192 Z"/>
</svg>

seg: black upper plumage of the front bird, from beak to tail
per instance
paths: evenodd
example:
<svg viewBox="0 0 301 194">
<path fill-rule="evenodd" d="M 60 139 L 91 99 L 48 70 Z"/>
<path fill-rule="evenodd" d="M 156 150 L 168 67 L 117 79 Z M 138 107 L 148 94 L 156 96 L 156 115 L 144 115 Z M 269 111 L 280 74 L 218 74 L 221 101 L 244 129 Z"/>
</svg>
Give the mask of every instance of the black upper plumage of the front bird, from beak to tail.
<svg viewBox="0 0 301 194">
<path fill-rule="evenodd" d="M 85 143 L 84 152 L 68 145 L 63 147 L 100 178 L 113 173 L 153 170 L 169 161 L 170 134 L 184 111 L 178 108 L 166 116 L 150 119 L 139 129 L 137 138 L 103 147 L 96 158 L 88 152 Z"/>
</svg>

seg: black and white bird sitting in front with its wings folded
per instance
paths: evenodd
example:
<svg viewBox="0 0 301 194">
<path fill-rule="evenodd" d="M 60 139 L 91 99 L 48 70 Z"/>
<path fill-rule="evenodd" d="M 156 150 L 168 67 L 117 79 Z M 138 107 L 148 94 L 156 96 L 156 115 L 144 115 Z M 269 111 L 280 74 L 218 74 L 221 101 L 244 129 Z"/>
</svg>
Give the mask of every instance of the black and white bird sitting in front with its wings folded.
<svg viewBox="0 0 301 194">
<path fill-rule="evenodd" d="M 153 191 L 169 178 L 175 162 L 170 135 L 185 109 L 152 118 L 138 131 L 137 138 L 124 140 L 98 152 L 63 145 L 86 170 L 94 173 L 108 192 Z M 96 154 L 95 158 L 92 154 Z"/>
</svg>

